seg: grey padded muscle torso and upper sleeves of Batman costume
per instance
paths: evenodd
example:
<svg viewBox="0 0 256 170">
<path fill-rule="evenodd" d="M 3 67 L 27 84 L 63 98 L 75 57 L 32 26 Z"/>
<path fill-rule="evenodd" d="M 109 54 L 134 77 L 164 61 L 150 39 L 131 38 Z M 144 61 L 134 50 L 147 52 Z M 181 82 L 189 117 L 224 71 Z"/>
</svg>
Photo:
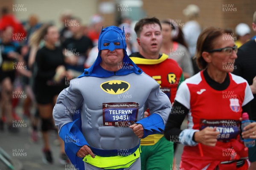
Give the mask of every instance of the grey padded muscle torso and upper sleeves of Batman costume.
<svg viewBox="0 0 256 170">
<path fill-rule="evenodd" d="M 118 96 L 120 94 L 109 94 L 103 91 L 100 85 L 110 80 L 128 82 L 130 87 L 124 93 L 131 95 L 131 97 L 120 98 Z M 57 109 L 53 111 L 55 124 L 58 125 L 60 130 L 63 125 L 72 122 L 72 115 L 65 114 L 65 107 L 75 106 L 77 109 L 81 109 L 82 133 L 91 147 L 104 150 L 115 150 L 116 148 L 131 149 L 139 144 L 140 139 L 129 127 L 103 125 L 102 104 L 110 102 L 138 103 L 137 121 L 143 119 L 144 111 L 148 107 L 146 105 L 149 105 L 150 112 L 159 114 L 163 122 L 166 123 L 170 106 L 168 103 L 155 101 L 155 99 L 153 99 L 155 94 L 160 96 L 159 99 L 161 99 L 161 95 L 163 95 L 164 99 L 166 98 L 165 94 L 160 91 L 159 84 L 144 73 L 140 75 L 133 73 L 107 78 L 81 77 L 73 79 L 70 82 L 70 87 L 64 89 L 58 96 L 55 105 L 55 108 L 58 108 L 58 112 L 56 111 Z M 144 103 L 146 104 L 144 105 Z"/>
</svg>

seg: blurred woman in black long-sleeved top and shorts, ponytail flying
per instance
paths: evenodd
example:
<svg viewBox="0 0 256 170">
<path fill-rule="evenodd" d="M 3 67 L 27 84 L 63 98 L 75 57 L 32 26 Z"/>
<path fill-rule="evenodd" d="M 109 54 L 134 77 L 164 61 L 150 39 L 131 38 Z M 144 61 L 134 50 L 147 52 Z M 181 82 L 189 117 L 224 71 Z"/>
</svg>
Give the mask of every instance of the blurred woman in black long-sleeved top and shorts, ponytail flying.
<svg viewBox="0 0 256 170">
<path fill-rule="evenodd" d="M 66 76 L 66 70 L 61 48 L 55 46 L 59 38 L 57 28 L 52 25 L 42 26 L 35 34 L 38 34 L 38 38 L 44 37 L 45 40 L 44 47 L 38 50 L 35 59 L 35 97 L 42 120 L 41 130 L 44 139 L 43 161 L 48 164 L 53 162 L 48 141 L 48 131 L 53 126 L 52 109 L 58 94 L 65 88 L 63 79 Z M 60 161 L 61 164 L 66 164 L 69 161 L 64 151 L 64 142 L 62 140 L 60 142 Z"/>
</svg>

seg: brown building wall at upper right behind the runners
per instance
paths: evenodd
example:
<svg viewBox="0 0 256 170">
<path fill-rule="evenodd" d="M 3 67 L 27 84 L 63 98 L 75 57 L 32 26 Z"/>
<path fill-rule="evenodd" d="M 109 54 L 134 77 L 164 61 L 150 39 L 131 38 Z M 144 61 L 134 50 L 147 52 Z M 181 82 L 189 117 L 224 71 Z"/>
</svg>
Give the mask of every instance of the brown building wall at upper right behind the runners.
<svg viewBox="0 0 256 170">
<path fill-rule="evenodd" d="M 143 9 L 149 17 L 155 16 L 160 20 L 172 18 L 181 20 L 182 23 L 187 21 L 182 13 L 183 9 L 189 4 L 195 4 L 201 10 L 198 21 L 204 28 L 217 26 L 234 30 L 239 23 L 247 23 L 251 26 L 253 13 L 256 11 L 256 0 L 143 0 L 143 2 Z"/>
</svg>

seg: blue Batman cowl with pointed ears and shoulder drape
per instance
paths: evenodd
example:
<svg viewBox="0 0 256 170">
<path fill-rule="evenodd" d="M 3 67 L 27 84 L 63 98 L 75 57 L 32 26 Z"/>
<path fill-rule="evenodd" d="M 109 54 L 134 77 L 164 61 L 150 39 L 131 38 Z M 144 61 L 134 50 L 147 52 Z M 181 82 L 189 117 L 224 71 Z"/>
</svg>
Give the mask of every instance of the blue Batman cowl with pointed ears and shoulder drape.
<svg viewBox="0 0 256 170">
<path fill-rule="evenodd" d="M 115 45 L 116 42 L 119 42 L 119 45 Z M 108 45 L 104 46 L 104 43 L 108 43 Z M 102 59 L 100 57 L 101 50 L 110 50 L 113 51 L 115 49 L 122 48 L 124 50 L 124 58 L 123 62 L 125 64 L 131 65 L 131 69 L 119 69 L 118 71 L 107 71 L 100 66 Z M 84 73 L 81 74 L 78 78 L 84 76 L 92 76 L 92 77 L 111 77 L 113 75 L 127 75 L 131 73 L 142 74 L 142 70 L 134 64 L 134 62 L 128 57 L 126 52 L 126 42 L 125 42 L 125 31 L 123 31 L 116 26 L 108 26 L 102 29 L 99 35 L 98 42 L 98 57 L 90 68 L 85 68 Z"/>
</svg>

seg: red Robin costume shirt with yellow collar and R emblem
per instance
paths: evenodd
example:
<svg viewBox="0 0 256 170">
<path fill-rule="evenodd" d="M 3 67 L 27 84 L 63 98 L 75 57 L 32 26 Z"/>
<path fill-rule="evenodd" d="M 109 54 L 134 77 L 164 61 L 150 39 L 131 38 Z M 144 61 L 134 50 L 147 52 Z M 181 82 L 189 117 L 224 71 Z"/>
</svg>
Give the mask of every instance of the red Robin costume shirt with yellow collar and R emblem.
<svg viewBox="0 0 256 170">
<path fill-rule="evenodd" d="M 177 88 L 184 77 L 182 69 L 168 55 L 160 54 L 158 59 L 145 59 L 140 53 L 133 53 L 129 56 L 132 61 L 146 74 L 160 84 L 160 89 L 174 102 Z"/>
</svg>

